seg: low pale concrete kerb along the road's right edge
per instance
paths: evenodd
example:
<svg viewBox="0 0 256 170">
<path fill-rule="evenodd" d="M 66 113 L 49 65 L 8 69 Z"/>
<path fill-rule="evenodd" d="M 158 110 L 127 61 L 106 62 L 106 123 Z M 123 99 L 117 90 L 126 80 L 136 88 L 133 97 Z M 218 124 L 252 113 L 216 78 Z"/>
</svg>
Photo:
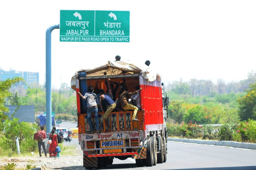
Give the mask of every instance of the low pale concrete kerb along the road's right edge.
<svg viewBox="0 0 256 170">
<path fill-rule="evenodd" d="M 167 140 L 168 141 L 176 141 L 176 142 L 196 143 L 196 144 L 230 146 L 230 147 L 234 147 L 234 148 L 256 149 L 256 144 L 253 144 L 253 143 L 242 143 L 242 142 L 232 142 L 232 141 L 195 140 L 195 139 L 181 139 L 181 138 L 167 138 Z"/>
</svg>

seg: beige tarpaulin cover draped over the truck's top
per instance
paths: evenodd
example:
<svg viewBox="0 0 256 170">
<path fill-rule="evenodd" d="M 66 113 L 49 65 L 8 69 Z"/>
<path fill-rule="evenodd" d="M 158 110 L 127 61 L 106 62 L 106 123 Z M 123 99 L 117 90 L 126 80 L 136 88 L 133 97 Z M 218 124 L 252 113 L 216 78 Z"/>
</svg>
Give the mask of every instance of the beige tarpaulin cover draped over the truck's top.
<svg viewBox="0 0 256 170">
<path fill-rule="evenodd" d="M 107 76 L 110 75 L 121 75 L 122 71 L 127 72 L 128 74 L 139 74 L 140 72 L 143 73 L 144 79 L 152 82 L 154 80 L 161 79 L 161 74 L 157 73 L 152 67 L 145 65 L 144 63 L 131 63 L 130 61 L 108 61 L 108 63 L 90 69 L 80 69 L 78 70 L 73 77 L 71 78 L 71 88 L 76 90 L 76 75 L 79 71 L 85 71 L 86 76 L 93 77 L 93 76 L 103 76 L 104 72 L 106 72 Z M 126 74 L 127 74 L 126 73 Z"/>
</svg>

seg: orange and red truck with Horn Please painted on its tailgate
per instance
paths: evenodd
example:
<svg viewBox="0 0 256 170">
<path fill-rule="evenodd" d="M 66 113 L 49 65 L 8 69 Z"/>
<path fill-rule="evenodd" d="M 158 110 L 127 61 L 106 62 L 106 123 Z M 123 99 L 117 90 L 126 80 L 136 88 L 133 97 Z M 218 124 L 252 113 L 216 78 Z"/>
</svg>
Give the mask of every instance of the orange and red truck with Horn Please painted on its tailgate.
<svg viewBox="0 0 256 170">
<path fill-rule="evenodd" d="M 86 101 L 77 94 L 78 139 L 83 151 L 84 167 L 104 168 L 111 165 L 114 158 L 134 158 L 138 167 L 166 162 L 169 98 L 164 92 L 161 75 L 146 65 L 139 66 L 129 61 L 108 61 L 98 67 L 78 70 L 71 78 L 71 87 L 82 95 L 89 86 L 97 86 L 96 88 L 106 91 L 105 81 L 108 78 L 119 84 L 125 82 L 129 92 L 135 91 L 137 85 L 142 88 L 141 110 L 136 115 L 139 121 L 131 120 L 133 110 L 113 110 L 108 117 L 112 131 L 107 133 L 104 113 L 99 112 L 101 133 L 90 134 Z M 116 92 L 116 98 L 119 91 L 120 89 Z M 93 114 L 91 121 L 96 130 Z"/>
</svg>

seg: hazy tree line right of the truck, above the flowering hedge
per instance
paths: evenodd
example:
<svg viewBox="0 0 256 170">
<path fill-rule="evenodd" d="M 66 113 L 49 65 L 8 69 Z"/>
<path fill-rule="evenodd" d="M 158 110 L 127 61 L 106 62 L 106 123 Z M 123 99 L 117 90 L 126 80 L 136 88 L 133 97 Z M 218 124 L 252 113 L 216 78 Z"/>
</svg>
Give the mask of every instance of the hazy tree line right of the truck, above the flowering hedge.
<svg viewBox="0 0 256 170">
<path fill-rule="evenodd" d="M 225 84 L 218 80 L 213 85 L 206 80 L 175 81 L 167 91 L 171 123 L 224 124 L 256 120 L 255 82 L 253 72 L 238 83 Z"/>
</svg>

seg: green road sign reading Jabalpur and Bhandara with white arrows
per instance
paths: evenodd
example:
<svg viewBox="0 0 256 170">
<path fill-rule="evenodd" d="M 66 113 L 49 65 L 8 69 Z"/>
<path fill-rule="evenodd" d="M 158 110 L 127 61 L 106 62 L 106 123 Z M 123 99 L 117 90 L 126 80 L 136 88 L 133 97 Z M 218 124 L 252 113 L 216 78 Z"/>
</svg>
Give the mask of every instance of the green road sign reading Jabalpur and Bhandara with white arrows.
<svg viewBox="0 0 256 170">
<path fill-rule="evenodd" d="M 60 10 L 60 41 L 130 42 L 130 12 Z"/>
</svg>

